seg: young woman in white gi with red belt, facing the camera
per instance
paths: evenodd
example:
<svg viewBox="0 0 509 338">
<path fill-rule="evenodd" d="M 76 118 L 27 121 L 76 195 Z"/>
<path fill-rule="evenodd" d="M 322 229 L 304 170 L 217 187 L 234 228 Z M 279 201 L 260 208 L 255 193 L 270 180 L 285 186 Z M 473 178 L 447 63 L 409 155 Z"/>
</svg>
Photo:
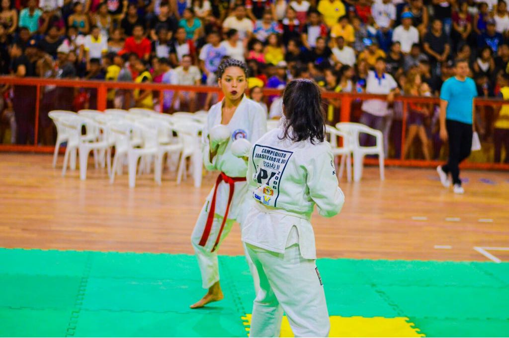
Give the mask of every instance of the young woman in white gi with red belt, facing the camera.
<svg viewBox="0 0 509 338">
<path fill-rule="evenodd" d="M 246 198 L 247 163 L 231 152 L 235 140 L 257 141 L 267 131 L 267 117 L 263 108 L 244 95 L 247 88 L 247 66 L 244 62 L 226 59 L 219 65 L 218 81 L 224 99 L 209 110 L 203 130 L 204 163 L 207 170 L 221 173 L 210 192 L 191 237 L 194 252 L 207 294 L 191 308 L 202 307 L 223 298 L 219 285 L 217 250 L 232 229 L 235 221 L 241 225 L 252 201 Z M 219 134 L 213 133 L 222 129 Z M 249 263 L 249 259 L 248 259 Z M 252 272 L 254 269 L 252 268 Z M 255 289 L 258 282 L 253 274 Z"/>
</svg>

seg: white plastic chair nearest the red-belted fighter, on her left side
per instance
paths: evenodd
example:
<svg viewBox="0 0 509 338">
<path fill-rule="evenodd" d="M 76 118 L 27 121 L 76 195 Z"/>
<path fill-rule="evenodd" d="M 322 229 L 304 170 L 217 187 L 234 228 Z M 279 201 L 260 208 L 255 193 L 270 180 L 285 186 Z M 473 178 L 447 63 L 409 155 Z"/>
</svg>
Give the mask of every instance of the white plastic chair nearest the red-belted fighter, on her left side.
<svg viewBox="0 0 509 338">
<path fill-rule="evenodd" d="M 179 170 L 177 173 L 177 184 L 180 184 L 182 176 L 185 175 L 185 160 L 191 158 L 193 166 L 194 187 L 202 186 L 203 155 L 201 133 L 204 125 L 193 121 L 177 120 L 174 123 L 175 131 L 181 138 L 184 148 L 180 157 Z"/>
</svg>

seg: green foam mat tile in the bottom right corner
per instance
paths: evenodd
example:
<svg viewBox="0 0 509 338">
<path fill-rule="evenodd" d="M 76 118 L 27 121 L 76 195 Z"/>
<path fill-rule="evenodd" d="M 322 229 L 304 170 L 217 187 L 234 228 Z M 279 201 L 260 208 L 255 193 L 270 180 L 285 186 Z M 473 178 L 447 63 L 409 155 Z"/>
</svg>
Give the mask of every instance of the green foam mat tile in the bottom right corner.
<svg viewBox="0 0 509 338">
<path fill-rule="evenodd" d="M 509 320 L 411 318 L 418 328 L 425 327 L 428 337 L 506 337 Z"/>
</svg>

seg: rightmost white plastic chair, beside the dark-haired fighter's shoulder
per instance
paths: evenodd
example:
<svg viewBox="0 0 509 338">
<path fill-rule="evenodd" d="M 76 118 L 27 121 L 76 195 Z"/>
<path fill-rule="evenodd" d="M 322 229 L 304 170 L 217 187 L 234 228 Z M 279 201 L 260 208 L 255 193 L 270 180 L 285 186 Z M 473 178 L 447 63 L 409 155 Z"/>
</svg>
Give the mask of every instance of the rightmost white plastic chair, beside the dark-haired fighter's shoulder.
<svg viewBox="0 0 509 338">
<path fill-rule="evenodd" d="M 384 151 L 383 151 L 383 134 L 377 129 L 372 129 L 361 123 L 340 122 L 336 124 L 338 131 L 350 135 L 351 147 L 353 153 L 353 180 L 360 181 L 362 177 L 362 168 L 364 156 L 369 154 L 378 155 L 378 163 L 380 168 L 380 179 L 384 180 Z M 373 147 L 363 147 L 359 144 L 359 134 L 365 133 L 376 138 L 376 145 Z"/>
</svg>

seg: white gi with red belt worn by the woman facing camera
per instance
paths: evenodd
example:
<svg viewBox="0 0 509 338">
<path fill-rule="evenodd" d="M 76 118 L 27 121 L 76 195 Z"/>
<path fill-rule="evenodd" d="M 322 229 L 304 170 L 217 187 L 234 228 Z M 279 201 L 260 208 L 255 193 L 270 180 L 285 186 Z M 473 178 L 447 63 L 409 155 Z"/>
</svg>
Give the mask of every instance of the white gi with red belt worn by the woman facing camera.
<svg viewBox="0 0 509 338">
<path fill-rule="evenodd" d="M 215 125 L 221 124 L 221 118 L 222 101 L 210 108 L 207 124 L 203 130 L 205 168 L 218 170 L 221 173 L 205 201 L 191 237 L 205 289 L 210 288 L 219 280 L 217 249 L 227 237 L 235 221 L 242 226 L 246 214 L 253 204 L 252 199 L 246 198 L 247 163 L 232 154 L 231 145 L 239 138 L 245 138 L 254 143 L 267 132 L 267 117 L 262 106 L 244 95 L 227 125 L 231 132 L 228 144 L 224 151 L 221 146 L 219 147 L 221 151 L 218 151 L 211 162 L 209 131 Z M 225 215 L 227 217 L 224 217 Z M 250 263 L 249 259 L 248 263 Z M 250 269 L 253 269 L 252 264 L 250 264 Z M 253 278 L 255 279 L 255 288 L 257 288 L 256 275 L 253 275 Z"/>
</svg>

